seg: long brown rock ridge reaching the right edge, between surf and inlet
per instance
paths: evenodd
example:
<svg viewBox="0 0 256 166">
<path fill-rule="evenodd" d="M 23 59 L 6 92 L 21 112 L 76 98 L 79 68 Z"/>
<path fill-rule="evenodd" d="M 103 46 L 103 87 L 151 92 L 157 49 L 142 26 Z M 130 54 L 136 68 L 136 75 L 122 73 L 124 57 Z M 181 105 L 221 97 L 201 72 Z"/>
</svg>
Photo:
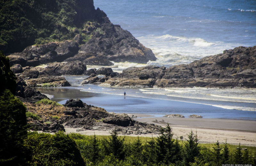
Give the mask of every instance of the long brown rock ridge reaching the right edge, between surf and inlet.
<svg viewBox="0 0 256 166">
<path fill-rule="evenodd" d="M 131 67 L 108 78 L 113 87 L 256 87 L 256 46 L 237 47 L 170 68 Z"/>
</svg>

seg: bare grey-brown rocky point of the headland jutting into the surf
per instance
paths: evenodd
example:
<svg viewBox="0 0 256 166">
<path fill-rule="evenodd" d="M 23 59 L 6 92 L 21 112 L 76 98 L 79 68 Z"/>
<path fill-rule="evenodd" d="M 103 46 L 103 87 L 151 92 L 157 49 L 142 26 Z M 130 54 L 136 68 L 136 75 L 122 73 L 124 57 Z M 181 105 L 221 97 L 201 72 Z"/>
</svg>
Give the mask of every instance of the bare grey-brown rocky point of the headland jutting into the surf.
<svg viewBox="0 0 256 166">
<path fill-rule="evenodd" d="M 131 33 L 112 23 L 96 27 L 92 39 L 81 46 L 75 57 L 92 56 L 114 62 L 147 63 L 149 60 L 156 60 L 153 52 L 144 47 Z"/>
</svg>

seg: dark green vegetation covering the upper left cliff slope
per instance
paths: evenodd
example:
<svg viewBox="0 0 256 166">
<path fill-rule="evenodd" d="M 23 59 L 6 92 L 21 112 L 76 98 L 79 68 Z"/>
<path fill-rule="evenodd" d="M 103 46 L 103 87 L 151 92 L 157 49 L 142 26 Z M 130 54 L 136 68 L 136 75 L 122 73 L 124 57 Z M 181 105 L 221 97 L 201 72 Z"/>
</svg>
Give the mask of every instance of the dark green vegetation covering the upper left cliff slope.
<svg viewBox="0 0 256 166">
<path fill-rule="evenodd" d="M 0 2 L 0 50 L 19 52 L 33 44 L 73 39 L 105 13 L 93 0 L 6 0 Z"/>
</svg>

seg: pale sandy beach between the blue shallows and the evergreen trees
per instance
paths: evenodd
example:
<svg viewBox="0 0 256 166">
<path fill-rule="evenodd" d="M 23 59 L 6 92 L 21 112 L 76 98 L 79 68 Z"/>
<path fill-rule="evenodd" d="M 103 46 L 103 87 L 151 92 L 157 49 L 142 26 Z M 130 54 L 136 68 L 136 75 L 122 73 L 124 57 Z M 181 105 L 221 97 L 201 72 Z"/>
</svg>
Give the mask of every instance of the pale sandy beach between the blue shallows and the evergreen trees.
<svg viewBox="0 0 256 166">
<path fill-rule="evenodd" d="M 256 146 L 256 121 L 236 120 L 236 119 L 204 119 L 204 118 L 169 118 L 169 117 L 150 117 L 146 114 L 133 114 L 137 116 L 134 120 L 139 122 L 166 126 L 167 123 L 172 127 L 174 138 L 183 136 L 187 139 L 187 134 L 197 132 L 200 143 L 220 143 Z M 65 128 L 67 133 L 76 132 L 76 129 Z M 77 132 L 76 132 L 77 133 Z M 86 135 L 110 135 L 108 131 L 86 130 L 79 132 Z M 138 135 L 129 135 L 138 136 Z M 158 135 L 142 134 L 140 137 L 156 137 Z"/>
</svg>

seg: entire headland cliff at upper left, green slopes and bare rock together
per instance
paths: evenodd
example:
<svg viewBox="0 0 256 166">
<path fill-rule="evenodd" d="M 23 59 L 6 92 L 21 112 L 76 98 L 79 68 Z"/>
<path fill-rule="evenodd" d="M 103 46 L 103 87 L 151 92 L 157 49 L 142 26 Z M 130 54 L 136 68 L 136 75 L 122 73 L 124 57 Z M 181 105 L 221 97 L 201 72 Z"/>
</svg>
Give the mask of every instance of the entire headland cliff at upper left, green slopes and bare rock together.
<svg viewBox="0 0 256 166">
<path fill-rule="evenodd" d="M 74 60 L 111 65 L 110 61 L 156 60 L 132 34 L 113 25 L 99 8 L 95 10 L 93 0 L 13 0 L 0 4 L 0 49 L 12 53 L 11 65 Z"/>
</svg>

